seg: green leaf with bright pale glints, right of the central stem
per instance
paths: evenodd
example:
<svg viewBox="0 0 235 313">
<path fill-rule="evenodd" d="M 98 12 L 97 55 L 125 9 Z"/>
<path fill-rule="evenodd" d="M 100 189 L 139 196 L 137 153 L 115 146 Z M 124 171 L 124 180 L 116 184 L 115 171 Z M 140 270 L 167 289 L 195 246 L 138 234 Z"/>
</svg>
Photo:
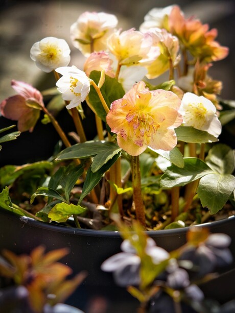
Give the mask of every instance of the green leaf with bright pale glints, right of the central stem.
<svg viewBox="0 0 235 313">
<path fill-rule="evenodd" d="M 167 168 L 161 176 L 161 187 L 184 186 L 187 183 L 203 177 L 206 174 L 214 173 L 213 170 L 198 158 L 184 158 L 184 167 L 172 165 Z"/>
</svg>

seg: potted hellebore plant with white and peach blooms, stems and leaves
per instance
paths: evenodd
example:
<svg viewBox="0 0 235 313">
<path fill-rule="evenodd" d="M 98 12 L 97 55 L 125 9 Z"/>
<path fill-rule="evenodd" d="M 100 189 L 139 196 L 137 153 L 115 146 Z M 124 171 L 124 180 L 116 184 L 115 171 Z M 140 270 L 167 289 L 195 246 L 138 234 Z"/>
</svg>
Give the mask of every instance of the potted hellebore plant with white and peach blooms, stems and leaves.
<svg viewBox="0 0 235 313">
<path fill-rule="evenodd" d="M 234 151 L 218 137 L 234 112 L 219 99 L 222 83 L 208 74 L 228 48 L 215 40 L 215 29 L 185 18 L 178 6 L 151 10 L 139 30 L 117 23 L 103 12 L 85 12 L 73 23 L 83 69 L 69 65 L 64 39 L 33 44 L 31 59 L 53 71 L 56 87 L 40 92 L 12 80 L 18 94 L 2 101 L 1 113 L 17 121 L 19 132 L 32 132 L 42 111 L 42 123 L 53 124 L 63 146 L 49 160 L 2 167 L 1 207 L 44 222 L 114 230 L 115 214 L 147 230 L 233 214 Z M 169 80 L 156 85 L 166 73 Z M 69 113 L 77 133 L 68 137 L 52 103 Z M 85 106 L 95 116 L 92 140 Z"/>
</svg>

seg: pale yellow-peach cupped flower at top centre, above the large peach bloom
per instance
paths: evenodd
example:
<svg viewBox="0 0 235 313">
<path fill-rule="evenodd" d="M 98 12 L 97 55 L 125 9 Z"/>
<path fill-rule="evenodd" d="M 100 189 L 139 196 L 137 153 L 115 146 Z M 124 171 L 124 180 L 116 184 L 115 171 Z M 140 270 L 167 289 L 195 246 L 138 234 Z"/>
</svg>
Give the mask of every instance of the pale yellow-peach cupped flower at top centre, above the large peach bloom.
<svg viewBox="0 0 235 313">
<path fill-rule="evenodd" d="M 134 28 L 113 33 L 108 38 L 108 48 L 120 65 L 146 65 L 159 55 L 159 48 L 152 47 L 153 39 Z"/>
</svg>

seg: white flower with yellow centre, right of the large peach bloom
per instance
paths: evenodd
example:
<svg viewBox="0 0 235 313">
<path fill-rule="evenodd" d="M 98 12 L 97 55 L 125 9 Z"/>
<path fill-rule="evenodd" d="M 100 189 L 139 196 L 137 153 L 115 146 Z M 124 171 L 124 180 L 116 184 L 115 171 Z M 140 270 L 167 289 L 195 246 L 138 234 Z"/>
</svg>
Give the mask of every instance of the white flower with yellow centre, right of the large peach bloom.
<svg viewBox="0 0 235 313">
<path fill-rule="evenodd" d="M 179 113 L 183 116 L 184 126 L 192 126 L 215 137 L 220 135 L 222 128 L 216 107 L 202 95 L 199 97 L 191 92 L 184 93 Z"/>
</svg>

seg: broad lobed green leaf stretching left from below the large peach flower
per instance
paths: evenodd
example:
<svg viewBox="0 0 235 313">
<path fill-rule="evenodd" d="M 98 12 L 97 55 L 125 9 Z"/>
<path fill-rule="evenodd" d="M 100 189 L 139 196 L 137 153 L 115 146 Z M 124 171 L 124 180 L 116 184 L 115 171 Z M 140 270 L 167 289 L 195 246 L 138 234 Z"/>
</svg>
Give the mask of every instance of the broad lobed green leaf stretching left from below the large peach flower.
<svg viewBox="0 0 235 313">
<path fill-rule="evenodd" d="M 95 156 L 91 165 L 91 170 L 95 173 L 121 150 L 114 142 L 91 140 L 64 149 L 58 154 L 56 160 L 83 159 Z"/>
</svg>

